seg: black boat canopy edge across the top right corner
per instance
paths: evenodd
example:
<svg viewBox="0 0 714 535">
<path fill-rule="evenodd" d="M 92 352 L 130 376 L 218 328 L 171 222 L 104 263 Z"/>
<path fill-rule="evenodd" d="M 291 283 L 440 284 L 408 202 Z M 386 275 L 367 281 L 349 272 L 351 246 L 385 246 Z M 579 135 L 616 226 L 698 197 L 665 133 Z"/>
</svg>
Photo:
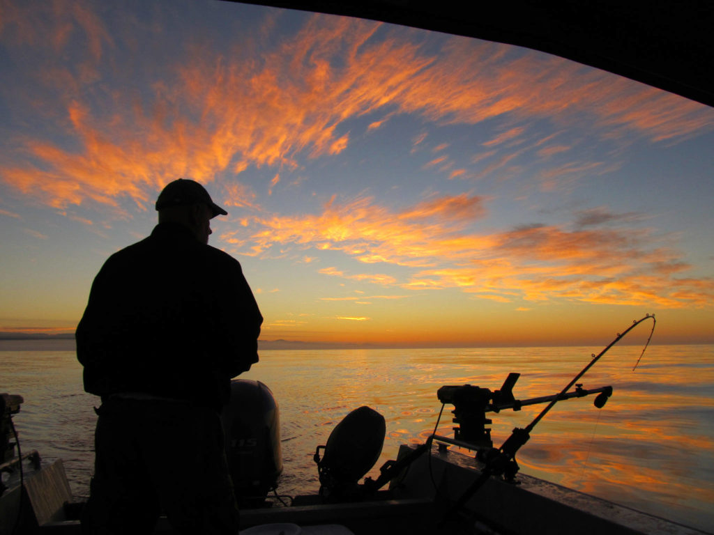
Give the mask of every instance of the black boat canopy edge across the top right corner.
<svg viewBox="0 0 714 535">
<path fill-rule="evenodd" d="M 714 4 L 710 0 L 243 3 L 355 16 L 525 46 L 714 106 Z"/>
</svg>

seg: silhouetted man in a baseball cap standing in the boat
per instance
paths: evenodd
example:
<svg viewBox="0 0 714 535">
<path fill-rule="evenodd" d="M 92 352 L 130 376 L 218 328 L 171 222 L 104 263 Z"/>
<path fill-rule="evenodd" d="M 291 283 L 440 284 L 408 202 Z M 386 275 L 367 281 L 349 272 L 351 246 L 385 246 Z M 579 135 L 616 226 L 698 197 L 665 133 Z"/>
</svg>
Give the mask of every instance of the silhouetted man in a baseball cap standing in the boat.
<svg viewBox="0 0 714 535">
<path fill-rule="evenodd" d="M 258 362 L 263 317 L 241 265 L 208 245 L 226 215 L 193 180 L 156 200 L 159 225 L 111 255 L 76 332 L 84 389 L 101 396 L 87 533 L 238 532 L 219 413 Z"/>
</svg>

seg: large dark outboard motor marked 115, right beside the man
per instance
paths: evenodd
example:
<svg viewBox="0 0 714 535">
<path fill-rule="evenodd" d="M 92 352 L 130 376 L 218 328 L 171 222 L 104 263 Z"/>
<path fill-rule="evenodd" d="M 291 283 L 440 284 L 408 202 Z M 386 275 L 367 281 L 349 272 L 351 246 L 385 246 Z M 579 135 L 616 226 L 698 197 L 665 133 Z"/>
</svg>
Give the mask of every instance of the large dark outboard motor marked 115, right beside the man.
<svg viewBox="0 0 714 535">
<path fill-rule="evenodd" d="M 278 403 L 262 382 L 233 379 L 221 419 L 238 506 L 261 507 L 283 472 Z"/>
</svg>

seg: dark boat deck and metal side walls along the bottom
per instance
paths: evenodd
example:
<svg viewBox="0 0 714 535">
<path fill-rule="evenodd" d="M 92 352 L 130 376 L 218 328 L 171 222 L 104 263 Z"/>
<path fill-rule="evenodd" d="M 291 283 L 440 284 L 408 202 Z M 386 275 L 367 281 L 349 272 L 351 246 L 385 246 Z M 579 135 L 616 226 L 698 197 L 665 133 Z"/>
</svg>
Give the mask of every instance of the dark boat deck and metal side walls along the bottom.
<svg viewBox="0 0 714 535">
<path fill-rule="evenodd" d="M 400 454 L 411 451 L 402 446 Z M 292 506 L 241 510 L 241 527 L 295 524 L 303 535 L 704 534 L 525 474 L 518 475 L 520 484 L 489 479 L 461 511 L 453 511 L 453 504 L 479 473 L 473 456 L 440 452 L 435 446 L 431 455 L 419 457 L 374 499 L 326 504 L 318 496 L 298 496 Z M 7 514 L 16 511 L 19 496 L 26 504 L 22 515 Z M 71 495 L 61 461 L 27 474 L 24 487 L 6 491 L 1 502 L 6 509 L 0 511 L 1 532 L 74 535 L 81 531 L 81 504 L 67 504 Z M 166 518 L 159 519 L 155 533 L 172 532 Z"/>
</svg>

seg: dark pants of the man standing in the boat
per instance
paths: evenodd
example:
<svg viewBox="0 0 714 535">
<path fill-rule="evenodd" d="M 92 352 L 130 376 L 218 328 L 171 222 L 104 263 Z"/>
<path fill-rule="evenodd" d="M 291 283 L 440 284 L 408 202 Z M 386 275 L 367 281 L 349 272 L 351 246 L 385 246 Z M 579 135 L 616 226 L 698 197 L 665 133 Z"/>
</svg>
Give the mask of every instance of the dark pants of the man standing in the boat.
<svg viewBox="0 0 714 535">
<path fill-rule="evenodd" d="M 97 410 L 86 534 L 237 534 L 238 507 L 216 412 L 188 402 L 112 397 Z"/>
</svg>

